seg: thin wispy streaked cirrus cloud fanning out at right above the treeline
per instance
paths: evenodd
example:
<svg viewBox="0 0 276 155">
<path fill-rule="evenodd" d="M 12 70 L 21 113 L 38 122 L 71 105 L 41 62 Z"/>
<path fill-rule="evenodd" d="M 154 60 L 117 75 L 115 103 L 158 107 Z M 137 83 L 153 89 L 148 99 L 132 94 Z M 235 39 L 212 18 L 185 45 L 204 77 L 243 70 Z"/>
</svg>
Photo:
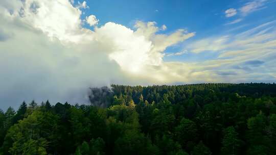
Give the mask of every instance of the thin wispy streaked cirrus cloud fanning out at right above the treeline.
<svg viewBox="0 0 276 155">
<path fill-rule="evenodd" d="M 198 40 L 188 46 L 195 53 L 218 53 L 218 57 L 197 63 L 196 72 L 209 72 L 238 82 L 248 80 L 274 82 L 276 67 L 276 21 L 270 21 L 236 35 L 222 35 Z M 234 74 L 233 74 L 234 73 Z"/>
</svg>

